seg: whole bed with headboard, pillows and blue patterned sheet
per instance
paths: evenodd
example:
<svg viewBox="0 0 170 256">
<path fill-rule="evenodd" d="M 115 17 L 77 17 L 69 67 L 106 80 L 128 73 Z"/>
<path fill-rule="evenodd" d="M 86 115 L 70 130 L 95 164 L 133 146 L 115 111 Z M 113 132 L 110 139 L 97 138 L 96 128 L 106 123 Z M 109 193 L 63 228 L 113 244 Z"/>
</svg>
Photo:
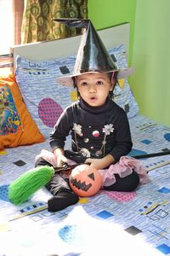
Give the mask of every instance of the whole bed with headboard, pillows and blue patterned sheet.
<svg viewBox="0 0 170 256">
<path fill-rule="evenodd" d="M 127 23 L 99 31 L 118 67 L 127 67 L 129 33 Z M 8 200 L 8 185 L 33 168 L 42 148 L 50 149 L 49 131 L 77 100 L 76 92 L 56 84 L 55 78 L 71 72 L 80 38 L 13 48 L 14 76 L 4 86 L 16 108 L 12 128 L 1 134 L 7 144 L 0 151 L 0 255 L 170 255 L 170 127 L 139 114 L 127 80 L 119 81 L 122 88 L 116 86 L 114 100 L 127 112 L 130 155 L 140 157 L 150 183 L 131 193 L 100 190 L 59 212 L 48 212 L 45 188 L 19 206 Z M 66 147 L 70 143 L 68 138 Z"/>
</svg>

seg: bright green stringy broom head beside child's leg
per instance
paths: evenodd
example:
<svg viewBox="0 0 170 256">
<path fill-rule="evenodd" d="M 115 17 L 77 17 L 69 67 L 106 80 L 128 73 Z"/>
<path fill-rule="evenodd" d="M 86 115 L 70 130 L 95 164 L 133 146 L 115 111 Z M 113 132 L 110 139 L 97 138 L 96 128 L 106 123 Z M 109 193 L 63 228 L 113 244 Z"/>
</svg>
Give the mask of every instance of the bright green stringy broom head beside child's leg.
<svg viewBox="0 0 170 256">
<path fill-rule="evenodd" d="M 46 185 L 54 176 L 54 168 L 38 166 L 25 172 L 8 187 L 8 199 L 14 205 L 26 202 L 38 189 Z"/>
</svg>

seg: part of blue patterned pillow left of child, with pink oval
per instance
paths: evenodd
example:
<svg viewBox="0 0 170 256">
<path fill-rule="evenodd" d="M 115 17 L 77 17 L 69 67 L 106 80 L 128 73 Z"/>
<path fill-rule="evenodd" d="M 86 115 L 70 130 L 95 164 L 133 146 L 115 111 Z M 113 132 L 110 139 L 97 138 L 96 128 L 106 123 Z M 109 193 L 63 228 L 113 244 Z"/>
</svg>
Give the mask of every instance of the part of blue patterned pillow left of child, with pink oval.
<svg viewBox="0 0 170 256">
<path fill-rule="evenodd" d="M 72 72 L 75 57 L 52 61 L 29 61 L 17 57 L 16 80 L 26 106 L 44 137 L 48 138 L 60 113 L 77 101 L 77 91 L 57 84 L 59 73 Z"/>
</svg>

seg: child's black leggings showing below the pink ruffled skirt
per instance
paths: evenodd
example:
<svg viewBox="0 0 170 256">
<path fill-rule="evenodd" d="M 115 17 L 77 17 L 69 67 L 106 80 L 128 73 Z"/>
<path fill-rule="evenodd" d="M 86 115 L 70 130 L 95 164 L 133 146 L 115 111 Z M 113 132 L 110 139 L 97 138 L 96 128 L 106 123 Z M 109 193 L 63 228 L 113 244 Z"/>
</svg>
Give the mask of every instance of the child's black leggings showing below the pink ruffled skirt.
<svg viewBox="0 0 170 256">
<path fill-rule="evenodd" d="M 48 161 L 42 158 L 37 159 L 35 166 L 52 166 Z M 127 177 L 120 177 L 118 174 L 115 175 L 116 183 L 108 187 L 103 187 L 103 189 L 108 191 L 122 191 L 130 192 L 137 188 L 139 185 L 139 174 L 137 172 L 132 172 Z M 52 177 L 51 181 L 46 185 L 46 188 L 53 194 L 56 195 L 60 190 L 71 190 L 69 185 L 69 179 L 64 178 L 59 173 L 56 173 Z M 54 188 L 54 189 L 53 189 Z"/>
</svg>

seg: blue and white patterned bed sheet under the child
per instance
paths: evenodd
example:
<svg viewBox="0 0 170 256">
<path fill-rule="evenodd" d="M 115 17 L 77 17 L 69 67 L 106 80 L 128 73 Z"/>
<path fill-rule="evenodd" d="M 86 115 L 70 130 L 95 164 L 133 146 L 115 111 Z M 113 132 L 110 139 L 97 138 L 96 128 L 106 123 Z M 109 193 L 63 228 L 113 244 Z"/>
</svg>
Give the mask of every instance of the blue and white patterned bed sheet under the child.
<svg viewBox="0 0 170 256">
<path fill-rule="evenodd" d="M 170 149 L 170 127 L 144 116 L 129 119 L 130 155 Z M 131 193 L 100 190 L 75 206 L 48 212 L 46 189 L 20 206 L 8 185 L 31 169 L 45 143 L 0 152 L 0 255 L 170 255 L 170 156 L 141 160 L 150 183 Z M 3 241 L 3 242 L 2 242 Z"/>
</svg>

